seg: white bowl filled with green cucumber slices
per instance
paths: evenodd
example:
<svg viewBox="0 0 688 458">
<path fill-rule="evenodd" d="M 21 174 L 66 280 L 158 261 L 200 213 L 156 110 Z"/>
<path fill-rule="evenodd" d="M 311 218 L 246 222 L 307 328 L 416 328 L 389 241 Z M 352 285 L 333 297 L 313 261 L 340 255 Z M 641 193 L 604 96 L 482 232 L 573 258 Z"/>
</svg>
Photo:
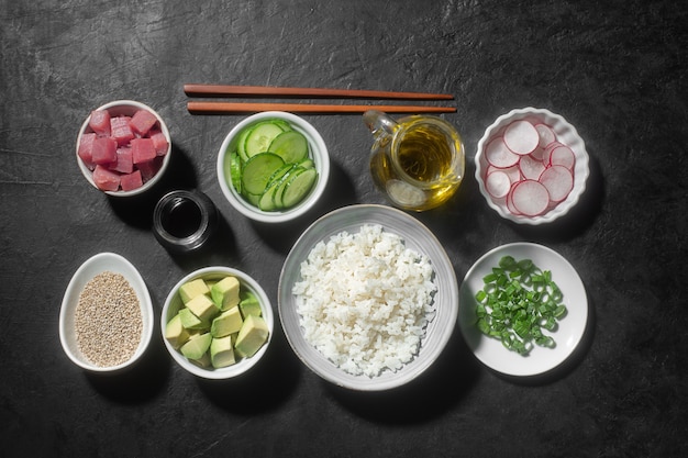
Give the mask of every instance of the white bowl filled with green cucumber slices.
<svg viewBox="0 0 688 458">
<path fill-rule="evenodd" d="M 266 111 L 234 126 L 218 155 L 222 193 L 243 215 L 281 223 L 307 213 L 323 194 L 330 155 L 322 136 L 296 114 Z"/>
</svg>

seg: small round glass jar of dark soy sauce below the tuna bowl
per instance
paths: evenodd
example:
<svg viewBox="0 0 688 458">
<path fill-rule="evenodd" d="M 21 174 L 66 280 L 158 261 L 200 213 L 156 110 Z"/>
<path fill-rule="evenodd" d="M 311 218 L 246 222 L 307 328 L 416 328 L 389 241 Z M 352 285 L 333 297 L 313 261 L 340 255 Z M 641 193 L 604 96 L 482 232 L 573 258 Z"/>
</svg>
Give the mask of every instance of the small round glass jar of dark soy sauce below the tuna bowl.
<svg viewBox="0 0 688 458">
<path fill-rule="evenodd" d="M 153 211 L 155 238 L 171 253 L 201 248 L 215 231 L 218 210 L 208 196 L 197 191 L 171 191 Z"/>
</svg>

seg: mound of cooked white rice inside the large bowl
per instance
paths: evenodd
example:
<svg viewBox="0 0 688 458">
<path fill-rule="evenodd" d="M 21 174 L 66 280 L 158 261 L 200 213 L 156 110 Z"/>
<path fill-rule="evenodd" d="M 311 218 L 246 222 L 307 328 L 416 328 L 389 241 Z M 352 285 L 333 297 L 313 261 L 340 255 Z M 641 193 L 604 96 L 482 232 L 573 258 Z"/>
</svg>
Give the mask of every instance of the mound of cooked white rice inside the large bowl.
<svg viewBox="0 0 688 458">
<path fill-rule="evenodd" d="M 369 224 L 318 243 L 292 292 L 306 340 L 344 371 L 376 377 L 418 354 L 436 289 L 428 257 Z"/>
</svg>

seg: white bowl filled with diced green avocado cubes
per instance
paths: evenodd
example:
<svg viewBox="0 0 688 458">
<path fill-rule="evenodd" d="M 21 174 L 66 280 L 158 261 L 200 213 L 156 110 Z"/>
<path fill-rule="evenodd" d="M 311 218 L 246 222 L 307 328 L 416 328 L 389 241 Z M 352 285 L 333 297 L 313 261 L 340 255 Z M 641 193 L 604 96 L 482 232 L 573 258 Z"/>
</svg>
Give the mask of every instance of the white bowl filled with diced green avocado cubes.
<svg viewBox="0 0 688 458">
<path fill-rule="evenodd" d="M 160 317 L 170 356 L 206 379 L 229 379 L 255 366 L 273 336 L 273 308 L 248 275 L 206 267 L 175 284 Z"/>
</svg>

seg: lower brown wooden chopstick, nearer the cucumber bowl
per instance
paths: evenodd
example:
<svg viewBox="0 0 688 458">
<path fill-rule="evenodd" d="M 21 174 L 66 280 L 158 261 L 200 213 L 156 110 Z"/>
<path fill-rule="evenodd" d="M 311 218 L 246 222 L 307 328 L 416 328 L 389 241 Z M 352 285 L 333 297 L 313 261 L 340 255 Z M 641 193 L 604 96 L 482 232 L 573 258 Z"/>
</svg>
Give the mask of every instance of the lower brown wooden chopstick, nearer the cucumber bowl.
<svg viewBox="0 0 688 458">
<path fill-rule="evenodd" d="M 378 110 L 386 113 L 455 113 L 454 107 L 421 105 L 335 105 L 318 103 L 251 103 L 251 102 L 188 102 L 192 114 L 257 113 L 262 111 L 288 111 L 291 113 L 364 113 Z"/>
</svg>

